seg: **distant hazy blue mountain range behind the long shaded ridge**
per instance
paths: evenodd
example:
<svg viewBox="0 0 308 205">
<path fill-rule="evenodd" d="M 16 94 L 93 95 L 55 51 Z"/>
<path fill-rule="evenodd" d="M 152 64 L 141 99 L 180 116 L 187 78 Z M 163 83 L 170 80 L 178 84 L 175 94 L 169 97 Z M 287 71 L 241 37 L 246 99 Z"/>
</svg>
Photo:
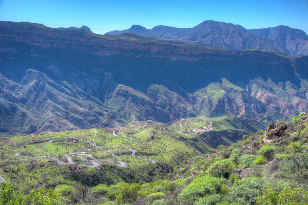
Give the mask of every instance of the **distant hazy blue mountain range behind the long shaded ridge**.
<svg viewBox="0 0 308 205">
<path fill-rule="evenodd" d="M 133 33 L 160 39 L 180 40 L 228 50 L 261 49 L 288 55 L 308 55 L 308 36 L 300 29 L 277 26 L 266 29 L 245 29 L 240 25 L 205 20 L 193 28 L 156 26 L 146 29 L 133 25 L 123 31 L 106 34 Z"/>
</svg>

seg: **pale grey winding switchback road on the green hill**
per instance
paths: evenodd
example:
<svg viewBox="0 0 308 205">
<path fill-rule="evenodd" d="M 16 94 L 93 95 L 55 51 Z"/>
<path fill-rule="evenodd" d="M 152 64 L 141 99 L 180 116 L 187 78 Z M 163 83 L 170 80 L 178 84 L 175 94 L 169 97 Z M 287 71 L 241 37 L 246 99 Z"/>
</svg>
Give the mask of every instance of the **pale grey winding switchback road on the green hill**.
<svg viewBox="0 0 308 205">
<path fill-rule="evenodd" d="M 109 161 L 109 162 L 115 163 L 116 165 L 118 165 L 118 166 L 120 166 L 120 167 L 127 167 L 127 163 L 124 162 L 124 161 L 117 161 L 117 160 L 113 160 L 113 159 L 95 159 L 92 155 L 86 154 L 86 153 L 90 153 L 90 152 L 81 152 L 81 153 L 70 152 L 70 153 L 68 153 L 68 154 L 64 154 L 63 156 L 67 158 L 68 163 L 65 163 L 65 162 L 63 162 L 63 161 L 61 161 L 61 160 L 59 160 L 59 159 L 57 159 L 57 158 L 55 158 L 55 157 L 53 157 L 53 156 L 37 156 L 37 157 L 34 157 L 34 156 L 26 155 L 27 153 L 30 154 L 30 153 L 33 153 L 33 152 L 36 152 L 36 151 L 42 149 L 43 147 L 49 145 L 51 142 L 54 142 L 54 141 L 62 141 L 62 140 L 65 140 L 65 139 L 81 140 L 81 141 L 85 141 L 85 142 L 91 144 L 91 145 L 94 146 L 95 148 L 98 148 L 98 149 L 106 149 L 106 147 L 97 146 L 97 144 L 96 144 L 95 141 L 94 141 L 95 137 L 97 136 L 97 130 L 95 130 L 95 129 L 92 129 L 92 130 L 95 131 L 95 135 L 94 135 L 92 141 L 89 141 L 89 140 L 86 140 L 86 139 L 80 139 L 80 138 L 76 138 L 76 137 L 65 137 L 65 138 L 62 138 L 62 139 L 52 139 L 52 140 L 48 141 L 47 144 L 42 145 L 41 147 L 39 147 L 39 148 L 37 148 L 37 149 L 35 149 L 35 150 L 31 151 L 31 152 L 25 152 L 25 153 L 20 153 L 20 152 L 18 152 L 18 153 L 15 153 L 15 155 L 16 155 L 16 156 L 20 156 L 20 157 L 36 158 L 36 159 L 39 159 L 39 158 L 46 158 L 46 159 L 50 159 L 50 160 L 56 161 L 56 163 L 57 163 L 58 165 L 75 164 L 75 163 L 73 162 L 72 158 L 71 158 L 71 157 L 73 156 L 73 157 L 77 157 L 77 158 L 81 159 L 82 161 L 88 163 L 88 164 L 86 164 L 86 163 L 82 163 L 82 164 L 81 164 L 82 166 L 87 167 L 87 168 L 99 167 L 99 166 L 101 165 L 101 162 L 103 162 L 103 161 Z M 125 135 L 116 135 L 115 132 L 114 132 L 114 130 L 112 130 L 112 134 L 113 134 L 114 136 L 117 136 L 117 137 L 125 137 L 125 138 L 127 138 L 127 139 L 130 139 L 131 141 L 134 140 L 133 138 L 129 138 L 129 137 L 125 136 Z M 115 149 L 115 150 L 129 150 L 129 151 L 131 152 L 130 156 L 137 157 L 137 158 L 142 159 L 142 160 L 145 160 L 145 161 L 150 161 L 150 162 L 153 163 L 153 164 L 156 164 L 156 162 L 157 162 L 156 160 L 153 160 L 153 159 L 147 159 L 147 158 L 144 158 L 144 157 L 141 157 L 141 156 L 136 156 L 136 155 L 135 155 L 135 154 L 136 154 L 136 151 L 133 150 L 133 149 Z M 95 152 L 97 152 L 97 153 L 108 153 L 108 154 L 110 154 L 113 158 L 119 157 L 119 156 L 115 155 L 113 152 L 100 151 L 100 150 L 91 150 L 91 151 L 95 151 Z M 86 159 L 86 158 L 84 158 L 84 157 L 82 157 L 82 156 L 79 156 L 79 155 L 87 156 L 88 158 L 90 158 L 90 160 L 89 160 L 89 159 Z M 0 176 L 0 182 L 2 182 L 1 180 L 4 181 L 4 179 Z"/>
</svg>

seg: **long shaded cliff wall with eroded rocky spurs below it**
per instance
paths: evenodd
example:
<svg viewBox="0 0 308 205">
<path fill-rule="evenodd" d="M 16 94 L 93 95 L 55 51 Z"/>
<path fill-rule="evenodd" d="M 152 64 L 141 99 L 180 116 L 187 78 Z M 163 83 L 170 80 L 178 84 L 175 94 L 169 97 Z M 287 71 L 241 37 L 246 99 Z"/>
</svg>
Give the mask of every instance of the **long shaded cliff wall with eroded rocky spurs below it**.
<svg viewBox="0 0 308 205">
<path fill-rule="evenodd" d="M 201 114 L 270 120 L 308 110 L 308 57 L 30 23 L 0 28 L 1 132 Z M 26 120 L 31 128 L 18 124 Z"/>
</svg>

